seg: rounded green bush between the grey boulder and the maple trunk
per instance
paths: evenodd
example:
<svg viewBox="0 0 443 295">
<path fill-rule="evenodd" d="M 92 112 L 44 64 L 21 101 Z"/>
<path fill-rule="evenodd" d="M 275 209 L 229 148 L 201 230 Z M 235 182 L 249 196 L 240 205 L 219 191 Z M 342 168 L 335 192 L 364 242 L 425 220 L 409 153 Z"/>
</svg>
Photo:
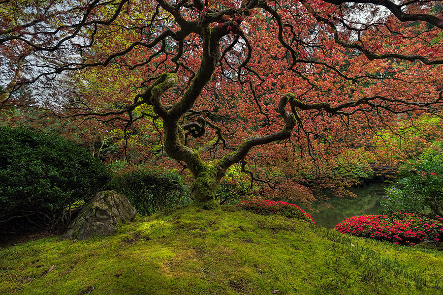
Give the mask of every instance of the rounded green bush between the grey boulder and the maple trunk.
<svg viewBox="0 0 443 295">
<path fill-rule="evenodd" d="M 127 196 L 142 215 L 151 215 L 163 208 L 186 205 L 190 202 L 189 189 L 175 172 L 131 171 L 112 180 L 114 190 Z"/>
</svg>

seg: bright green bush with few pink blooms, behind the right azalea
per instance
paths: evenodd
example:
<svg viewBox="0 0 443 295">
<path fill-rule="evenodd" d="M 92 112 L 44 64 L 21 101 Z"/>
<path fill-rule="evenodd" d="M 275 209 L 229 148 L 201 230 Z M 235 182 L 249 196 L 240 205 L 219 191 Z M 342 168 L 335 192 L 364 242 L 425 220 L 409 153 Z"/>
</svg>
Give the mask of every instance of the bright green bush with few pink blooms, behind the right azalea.
<svg viewBox="0 0 443 295">
<path fill-rule="evenodd" d="M 443 156 L 427 154 L 406 165 L 403 178 L 386 189 L 384 212 L 408 212 L 443 218 Z"/>
</svg>

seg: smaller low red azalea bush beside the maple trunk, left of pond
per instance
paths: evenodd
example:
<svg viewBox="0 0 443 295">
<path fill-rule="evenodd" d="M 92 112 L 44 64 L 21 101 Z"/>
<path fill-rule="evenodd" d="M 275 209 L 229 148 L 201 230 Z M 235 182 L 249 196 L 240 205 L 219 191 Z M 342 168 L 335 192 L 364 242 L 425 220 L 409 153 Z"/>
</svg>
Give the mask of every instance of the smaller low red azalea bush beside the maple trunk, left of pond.
<svg viewBox="0 0 443 295">
<path fill-rule="evenodd" d="M 252 199 L 241 201 L 237 206 L 260 215 L 276 214 L 290 218 L 295 217 L 316 224 L 311 215 L 306 213 L 302 208 L 287 202 Z"/>
</svg>

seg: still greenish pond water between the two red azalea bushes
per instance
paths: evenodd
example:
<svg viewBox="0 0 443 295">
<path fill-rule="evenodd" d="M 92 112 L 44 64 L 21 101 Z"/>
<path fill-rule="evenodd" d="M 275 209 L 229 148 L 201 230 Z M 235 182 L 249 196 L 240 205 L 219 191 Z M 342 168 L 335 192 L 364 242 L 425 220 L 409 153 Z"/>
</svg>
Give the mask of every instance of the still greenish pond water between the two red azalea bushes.
<svg viewBox="0 0 443 295">
<path fill-rule="evenodd" d="M 357 195 L 357 198 L 338 197 L 328 190 L 324 190 L 324 201 L 312 204 L 314 210 L 306 209 L 311 214 L 316 224 L 326 228 L 333 228 L 342 220 L 355 215 L 377 214 L 381 209 L 380 200 L 384 196 L 383 183 L 370 183 L 365 186 L 350 188 L 349 191 Z"/>
</svg>

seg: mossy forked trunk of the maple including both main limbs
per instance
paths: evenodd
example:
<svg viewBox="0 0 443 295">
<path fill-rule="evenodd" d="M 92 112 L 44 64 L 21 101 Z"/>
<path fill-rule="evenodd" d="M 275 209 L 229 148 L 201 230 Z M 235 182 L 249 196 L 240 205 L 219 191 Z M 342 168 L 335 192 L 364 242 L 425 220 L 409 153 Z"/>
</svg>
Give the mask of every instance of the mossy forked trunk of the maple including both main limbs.
<svg viewBox="0 0 443 295">
<path fill-rule="evenodd" d="M 290 136 L 296 118 L 293 114 L 288 113 L 285 107 L 288 102 L 293 107 L 295 98 L 293 94 L 289 93 L 280 100 L 278 109 L 285 121 L 285 126 L 282 130 L 266 136 L 247 139 L 235 151 L 224 156 L 218 163 L 206 165 L 196 150 L 185 146 L 185 132 L 179 125 L 179 121 L 193 107 L 201 91 L 211 80 L 221 57 L 220 39 L 226 34 L 226 31 L 220 28 L 209 29 L 208 24 L 205 24 L 203 21 L 199 22 L 199 29 L 198 34 L 203 41 L 200 67 L 180 101 L 167 108 L 161 103 L 161 95 L 177 81 L 177 76 L 173 73 L 160 75 L 154 85 L 144 93 L 143 99 L 153 105 L 154 111 L 163 119 L 163 146 L 165 152 L 172 159 L 185 162 L 195 179 L 191 187 L 194 198 L 193 206 L 216 209 L 220 207 L 220 204 L 215 199 L 215 189 L 219 185 L 221 177 L 224 176 L 225 171 L 231 165 L 241 161 L 254 146 L 265 145 Z M 200 121 L 200 126 L 204 128 L 205 120 L 203 118 L 202 120 L 202 122 Z M 199 134 L 199 136 L 201 135 Z"/>
</svg>

